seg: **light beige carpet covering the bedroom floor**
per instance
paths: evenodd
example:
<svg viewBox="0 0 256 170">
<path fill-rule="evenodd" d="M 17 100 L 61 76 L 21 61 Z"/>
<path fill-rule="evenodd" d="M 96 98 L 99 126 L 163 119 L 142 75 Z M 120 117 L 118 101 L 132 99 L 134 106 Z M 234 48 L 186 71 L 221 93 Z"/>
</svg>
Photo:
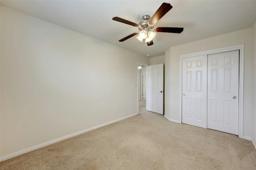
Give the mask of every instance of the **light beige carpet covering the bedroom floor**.
<svg viewBox="0 0 256 170">
<path fill-rule="evenodd" d="M 145 111 L 0 163 L 1 170 L 255 170 L 256 150 L 236 135 L 173 123 Z"/>
</svg>

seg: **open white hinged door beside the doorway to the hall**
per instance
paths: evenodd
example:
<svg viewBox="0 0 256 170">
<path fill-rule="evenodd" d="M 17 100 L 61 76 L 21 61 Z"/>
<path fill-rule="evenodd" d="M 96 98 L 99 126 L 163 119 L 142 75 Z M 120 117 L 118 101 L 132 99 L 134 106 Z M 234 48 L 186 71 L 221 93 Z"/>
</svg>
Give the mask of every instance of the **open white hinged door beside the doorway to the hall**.
<svg viewBox="0 0 256 170">
<path fill-rule="evenodd" d="M 164 114 L 164 64 L 148 66 L 147 102 L 148 111 Z"/>
</svg>

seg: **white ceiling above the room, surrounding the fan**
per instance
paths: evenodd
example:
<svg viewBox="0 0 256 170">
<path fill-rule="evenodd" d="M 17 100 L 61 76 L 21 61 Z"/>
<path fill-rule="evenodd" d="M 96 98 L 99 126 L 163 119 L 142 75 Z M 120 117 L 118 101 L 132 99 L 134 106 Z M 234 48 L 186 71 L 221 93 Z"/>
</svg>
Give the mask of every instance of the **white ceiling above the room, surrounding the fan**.
<svg viewBox="0 0 256 170">
<path fill-rule="evenodd" d="M 159 32 L 154 45 L 148 47 L 136 36 L 118 41 L 138 29 L 113 17 L 139 23 L 144 14 L 152 16 L 163 2 L 173 8 L 155 26 L 184 27 L 182 33 Z M 256 0 L 1 0 L 1 5 L 150 57 L 164 55 L 176 45 L 253 27 L 256 20 Z"/>
</svg>

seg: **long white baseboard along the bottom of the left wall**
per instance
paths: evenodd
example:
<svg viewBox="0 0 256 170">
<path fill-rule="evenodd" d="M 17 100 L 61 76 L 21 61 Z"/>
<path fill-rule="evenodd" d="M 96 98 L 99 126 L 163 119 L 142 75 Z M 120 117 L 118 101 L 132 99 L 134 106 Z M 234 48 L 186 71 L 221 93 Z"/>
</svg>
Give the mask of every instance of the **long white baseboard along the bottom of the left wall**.
<svg viewBox="0 0 256 170">
<path fill-rule="evenodd" d="M 36 150 L 36 149 L 40 149 L 40 148 L 42 148 L 42 147 L 46 147 L 46 146 L 48 146 L 48 145 L 52 145 L 52 144 L 54 144 L 54 143 L 63 141 L 63 140 L 65 140 L 65 139 L 68 139 L 68 138 L 71 138 L 71 137 L 74 137 L 74 136 L 77 136 L 77 135 L 81 135 L 82 133 L 86 133 L 86 132 L 88 132 L 88 131 L 92 131 L 92 130 L 94 130 L 94 129 L 98 129 L 98 128 L 103 127 L 103 126 L 106 126 L 106 125 L 110 125 L 110 124 L 112 124 L 112 123 L 115 123 L 115 122 L 118 122 L 118 121 L 127 119 L 127 118 L 132 117 L 132 116 L 135 116 L 135 115 L 138 115 L 138 113 L 134 113 L 134 114 L 132 114 L 132 115 L 128 115 L 128 116 L 122 117 L 122 118 L 120 118 L 120 119 L 116 119 L 116 120 L 113 120 L 113 121 L 110 121 L 110 122 L 107 122 L 107 123 L 103 123 L 103 124 L 101 124 L 101 125 L 97 125 L 97 126 L 94 126 L 94 127 L 88 128 L 88 129 L 85 129 L 85 130 L 83 130 L 83 131 L 79 131 L 79 132 L 76 132 L 76 133 L 72 133 L 72 134 L 70 134 L 70 135 L 66 135 L 66 136 L 64 136 L 64 137 L 60 137 L 60 138 L 58 138 L 58 139 L 54 139 L 54 140 L 52 140 L 52 141 L 48 141 L 48 142 L 42 143 L 42 144 L 36 145 L 36 146 L 34 146 L 34 147 L 30 147 L 30 148 L 27 148 L 27 149 L 20 150 L 20 151 L 18 151 L 18 152 L 14 152 L 14 153 L 8 154 L 8 155 L 6 155 L 6 156 L 2 156 L 2 157 L 0 157 L 0 162 L 2 162 L 2 161 L 4 161 L 4 160 L 8 160 L 8 159 L 10 159 L 10 158 L 14 158 L 14 157 L 19 156 L 19 155 L 24 154 L 24 153 L 31 152 L 31 151 Z"/>
</svg>

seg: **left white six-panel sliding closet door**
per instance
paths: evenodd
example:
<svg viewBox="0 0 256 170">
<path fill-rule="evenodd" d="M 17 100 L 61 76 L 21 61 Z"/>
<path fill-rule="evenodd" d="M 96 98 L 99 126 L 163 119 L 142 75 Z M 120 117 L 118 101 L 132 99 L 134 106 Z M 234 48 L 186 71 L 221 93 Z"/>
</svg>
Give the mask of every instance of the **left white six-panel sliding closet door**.
<svg viewBox="0 0 256 170">
<path fill-rule="evenodd" d="M 207 127 L 207 55 L 182 59 L 182 123 Z"/>
</svg>

